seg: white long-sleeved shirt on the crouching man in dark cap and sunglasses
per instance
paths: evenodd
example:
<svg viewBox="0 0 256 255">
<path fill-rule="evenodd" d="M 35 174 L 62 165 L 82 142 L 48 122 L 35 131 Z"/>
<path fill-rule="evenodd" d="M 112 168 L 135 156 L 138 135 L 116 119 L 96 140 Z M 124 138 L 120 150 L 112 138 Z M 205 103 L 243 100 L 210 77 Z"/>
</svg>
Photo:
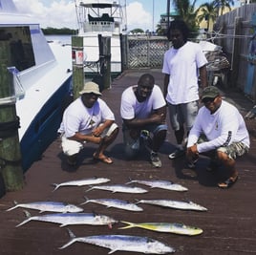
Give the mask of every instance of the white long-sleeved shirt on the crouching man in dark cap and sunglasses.
<svg viewBox="0 0 256 255">
<path fill-rule="evenodd" d="M 189 132 L 187 147 L 197 143 L 201 134 L 204 134 L 209 141 L 197 145 L 199 153 L 214 150 L 232 142 L 241 141 L 247 147 L 250 144 L 244 118 L 235 106 L 224 100 L 213 115 L 205 106 L 199 110 Z"/>
</svg>

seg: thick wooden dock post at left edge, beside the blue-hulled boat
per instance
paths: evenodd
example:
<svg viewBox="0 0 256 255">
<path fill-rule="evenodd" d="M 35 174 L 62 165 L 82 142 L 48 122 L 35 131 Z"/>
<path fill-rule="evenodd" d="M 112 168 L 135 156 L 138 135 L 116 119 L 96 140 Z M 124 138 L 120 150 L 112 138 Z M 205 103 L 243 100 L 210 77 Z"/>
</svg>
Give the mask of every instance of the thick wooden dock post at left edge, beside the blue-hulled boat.
<svg viewBox="0 0 256 255">
<path fill-rule="evenodd" d="M 21 166 L 19 118 L 16 116 L 13 74 L 8 71 L 10 66 L 10 42 L 0 39 L 0 171 L 3 180 L 0 183 L 5 185 L 0 187 L 2 193 L 20 190 L 25 184 Z"/>
</svg>

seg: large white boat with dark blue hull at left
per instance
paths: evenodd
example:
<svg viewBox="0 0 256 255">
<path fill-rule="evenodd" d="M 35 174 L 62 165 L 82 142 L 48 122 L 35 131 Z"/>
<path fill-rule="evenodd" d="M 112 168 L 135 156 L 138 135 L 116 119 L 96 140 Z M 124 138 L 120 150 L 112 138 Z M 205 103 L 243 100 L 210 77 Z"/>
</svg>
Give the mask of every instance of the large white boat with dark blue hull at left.
<svg viewBox="0 0 256 255">
<path fill-rule="evenodd" d="M 0 98 L 0 105 L 15 102 L 22 167 L 32 162 L 56 138 L 65 98 L 71 91 L 71 46 L 49 43 L 32 16 L 20 13 L 12 0 L 0 1 L 0 36 L 10 43 L 14 96 Z"/>
</svg>

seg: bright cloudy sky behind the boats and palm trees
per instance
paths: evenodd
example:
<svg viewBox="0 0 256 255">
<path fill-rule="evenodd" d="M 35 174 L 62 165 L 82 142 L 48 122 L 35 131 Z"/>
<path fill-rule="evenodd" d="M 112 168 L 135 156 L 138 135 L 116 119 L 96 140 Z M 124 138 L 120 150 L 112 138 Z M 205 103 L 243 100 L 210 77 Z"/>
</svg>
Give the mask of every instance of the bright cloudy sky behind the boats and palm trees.
<svg viewBox="0 0 256 255">
<path fill-rule="evenodd" d="M 13 0 L 13 2 L 19 11 L 35 16 L 43 29 L 47 27 L 77 29 L 75 0 Z M 200 6 L 205 2 L 207 0 L 198 0 L 197 5 Z M 128 31 L 138 28 L 143 31 L 155 31 L 160 22 L 160 14 L 166 11 L 167 0 L 126 0 Z"/>
</svg>

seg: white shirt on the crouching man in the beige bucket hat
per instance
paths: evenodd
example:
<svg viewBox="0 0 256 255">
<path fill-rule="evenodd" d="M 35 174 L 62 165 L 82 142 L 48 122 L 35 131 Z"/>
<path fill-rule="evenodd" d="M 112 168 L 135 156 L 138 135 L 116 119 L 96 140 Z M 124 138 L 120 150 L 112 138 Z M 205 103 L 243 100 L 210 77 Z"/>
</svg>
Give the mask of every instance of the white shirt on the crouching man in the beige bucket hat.
<svg viewBox="0 0 256 255">
<path fill-rule="evenodd" d="M 88 135 L 106 119 L 115 120 L 115 117 L 102 99 L 98 98 L 92 108 L 87 108 L 80 96 L 65 110 L 58 132 L 65 133 L 66 138 L 75 136 L 76 132 Z"/>
</svg>

